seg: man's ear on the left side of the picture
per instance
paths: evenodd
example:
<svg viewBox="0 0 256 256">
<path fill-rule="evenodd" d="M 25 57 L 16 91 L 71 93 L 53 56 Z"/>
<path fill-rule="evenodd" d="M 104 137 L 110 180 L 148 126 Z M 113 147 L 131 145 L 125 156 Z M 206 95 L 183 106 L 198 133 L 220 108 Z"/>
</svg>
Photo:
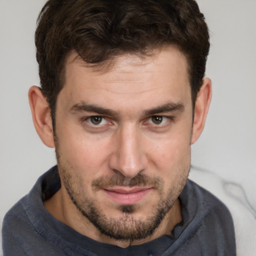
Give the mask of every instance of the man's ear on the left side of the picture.
<svg viewBox="0 0 256 256">
<path fill-rule="evenodd" d="M 32 86 L 28 91 L 28 100 L 37 134 L 46 146 L 55 147 L 50 109 L 41 89 Z"/>
</svg>

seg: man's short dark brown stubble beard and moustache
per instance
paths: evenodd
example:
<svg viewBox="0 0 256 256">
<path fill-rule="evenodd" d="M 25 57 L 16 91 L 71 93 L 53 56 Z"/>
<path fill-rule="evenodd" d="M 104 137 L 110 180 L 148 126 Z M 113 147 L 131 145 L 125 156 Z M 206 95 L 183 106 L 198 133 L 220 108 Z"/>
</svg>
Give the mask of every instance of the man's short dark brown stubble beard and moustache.
<svg viewBox="0 0 256 256">
<path fill-rule="evenodd" d="M 56 139 L 56 138 L 55 138 Z M 58 143 L 55 141 L 56 158 L 58 170 L 60 174 L 61 184 L 64 185 L 71 201 L 102 234 L 115 240 L 129 241 L 144 239 L 150 236 L 159 226 L 165 215 L 171 209 L 173 203 L 181 193 L 187 175 L 180 177 L 180 182 L 177 186 L 169 188 L 165 197 L 162 191 L 163 180 L 158 177 L 149 177 L 145 174 L 137 174 L 133 178 L 126 178 L 121 173 L 115 174 L 112 177 L 100 177 L 93 180 L 92 190 L 97 191 L 106 185 L 154 185 L 159 195 L 159 202 L 152 207 L 151 212 L 146 218 L 138 219 L 136 212 L 139 211 L 139 205 L 120 205 L 119 215 L 115 218 L 109 217 L 103 213 L 103 210 L 93 198 L 86 197 L 82 190 L 79 190 L 81 184 L 78 183 L 79 178 L 74 177 L 72 168 L 63 160 L 58 150 Z M 188 171 L 181 171 L 188 173 Z M 171 231 L 171 230 L 170 230 Z"/>
</svg>

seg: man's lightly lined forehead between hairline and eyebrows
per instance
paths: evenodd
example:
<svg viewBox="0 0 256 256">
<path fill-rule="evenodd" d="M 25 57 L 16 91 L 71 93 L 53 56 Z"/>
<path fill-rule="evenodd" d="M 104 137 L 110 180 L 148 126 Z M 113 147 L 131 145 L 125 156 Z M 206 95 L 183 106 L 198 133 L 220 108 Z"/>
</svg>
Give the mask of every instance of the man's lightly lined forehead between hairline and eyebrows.
<svg viewBox="0 0 256 256">
<path fill-rule="evenodd" d="M 106 66 L 89 66 L 72 52 L 66 61 L 60 95 L 72 104 L 89 101 L 113 108 L 118 106 L 116 102 L 123 106 L 127 102 L 128 107 L 140 101 L 146 108 L 153 102 L 182 101 L 187 95 L 190 98 L 187 61 L 173 46 L 148 56 L 120 55 Z"/>
</svg>

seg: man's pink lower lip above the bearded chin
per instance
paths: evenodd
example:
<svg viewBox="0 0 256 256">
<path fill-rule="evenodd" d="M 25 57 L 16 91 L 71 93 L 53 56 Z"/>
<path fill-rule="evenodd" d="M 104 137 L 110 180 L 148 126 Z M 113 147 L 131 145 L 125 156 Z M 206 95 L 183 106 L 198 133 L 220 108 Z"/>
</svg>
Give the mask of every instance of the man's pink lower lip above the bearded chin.
<svg viewBox="0 0 256 256">
<path fill-rule="evenodd" d="M 116 203 L 131 205 L 139 202 L 142 198 L 144 198 L 148 193 L 150 193 L 152 188 L 147 188 L 143 190 L 139 190 L 132 193 L 119 193 L 115 191 L 109 191 L 104 189 L 105 193 Z"/>
</svg>

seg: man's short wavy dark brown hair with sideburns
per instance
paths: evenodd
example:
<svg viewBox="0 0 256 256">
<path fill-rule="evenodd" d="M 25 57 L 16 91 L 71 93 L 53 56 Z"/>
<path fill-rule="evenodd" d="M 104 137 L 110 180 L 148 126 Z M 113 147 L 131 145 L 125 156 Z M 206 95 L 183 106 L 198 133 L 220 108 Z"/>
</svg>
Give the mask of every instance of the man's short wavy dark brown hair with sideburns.
<svg viewBox="0 0 256 256">
<path fill-rule="evenodd" d="M 194 106 L 209 50 L 208 28 L 194 0 L 48 0 L 37 19 L 35 45 L 52 121 L 71 50 L 97 65 L 124 53 L 146 55 L 168 44 L 187 58 Z"/>
</svg>

